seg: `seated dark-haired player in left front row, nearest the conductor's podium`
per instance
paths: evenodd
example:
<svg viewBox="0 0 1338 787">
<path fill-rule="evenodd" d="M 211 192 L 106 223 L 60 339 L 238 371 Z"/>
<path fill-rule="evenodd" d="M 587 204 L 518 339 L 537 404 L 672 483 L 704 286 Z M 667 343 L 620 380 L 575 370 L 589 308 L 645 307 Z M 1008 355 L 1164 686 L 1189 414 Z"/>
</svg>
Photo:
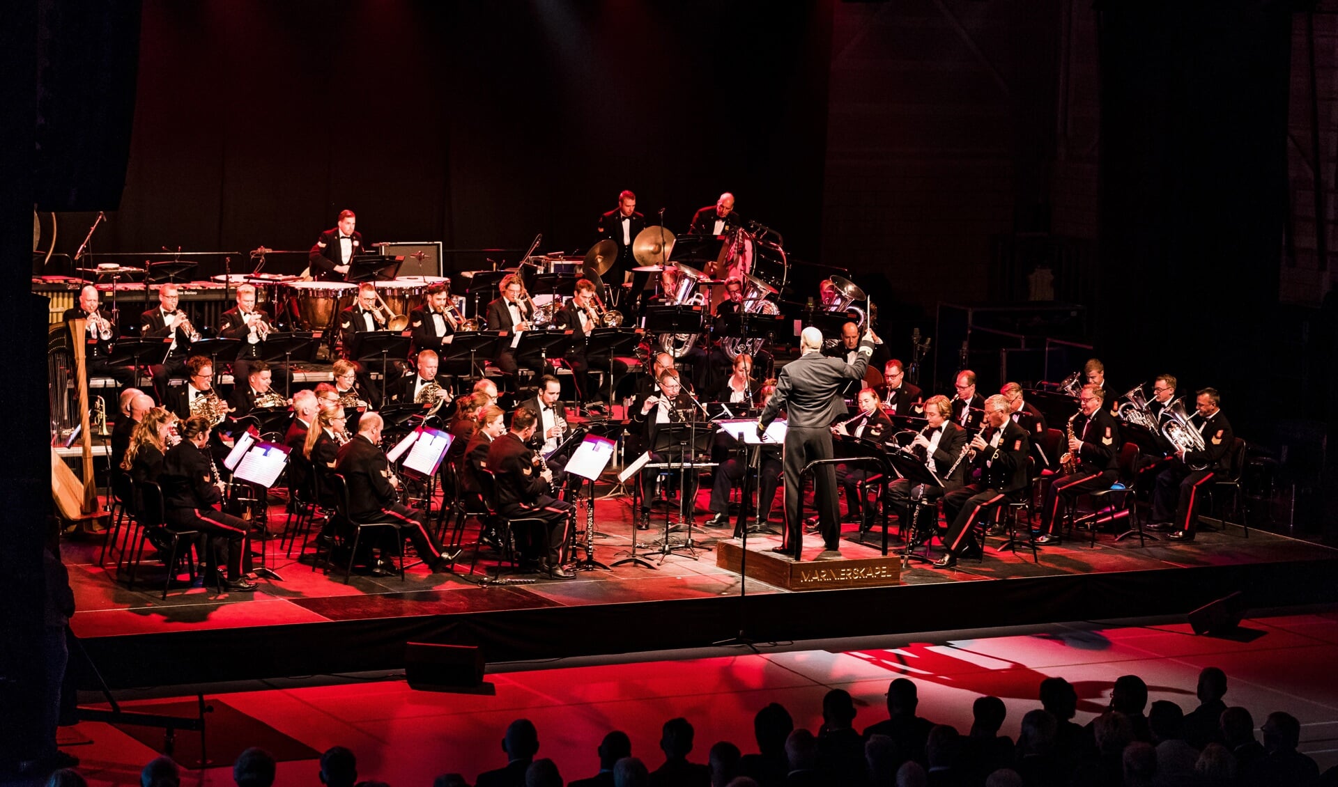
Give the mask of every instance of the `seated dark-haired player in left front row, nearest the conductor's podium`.
<svg viewBox="0 0 1338 787">
<path fill-rule="evenodd" d="M 545 521 L 545 532 L 529 533 L 529 556 L 538 559 L 541 571 L 547 571 L 550 577 L 569 580 L 575 573 L 562 568 L 559 549 L 567 538 L 567 522 L 575 506 L 553 497 L 553 473 L 526 445 L 534 429 L 534 412 L 516 408 L 511 413 L 511 430 L 488 448 L 487 469 L 496 478 L 498 513 L 510 520 L 538 517 Z M 516 538 L 520 537 L 518 533 Z"/>
</svg>

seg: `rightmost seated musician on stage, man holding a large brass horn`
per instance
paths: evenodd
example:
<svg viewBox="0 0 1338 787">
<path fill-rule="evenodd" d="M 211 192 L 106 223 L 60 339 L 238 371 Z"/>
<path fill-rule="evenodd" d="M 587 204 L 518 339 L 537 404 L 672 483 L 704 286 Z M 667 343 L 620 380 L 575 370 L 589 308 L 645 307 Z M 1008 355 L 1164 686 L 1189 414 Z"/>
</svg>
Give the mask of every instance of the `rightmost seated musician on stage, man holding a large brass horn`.
<svg viewBox="0 0 1338 787">
<path fill-rule="evenodd" d="M 1222 414 L 1222 396 L 1218 389 L 1206 387 L 1199 391 L 1188 428 L 1203 438 L 1203 448 L 1192 450 L 1176 448 L 1177 461 L 1157 473 L 1157 485 L 1152 494 L 1152 521 L 1163 525 L 1156 529 L 1169 529 L 1167 537 L 1172 541 L 1193 541 L 1198 522 L 1195 506 L 1200 490 L 1214 478 L 1231 472 L 1231 444 L 1235 441 L 1235 433 L 1231 432 L 1231 422 Z M 1195 470 L 1195 466 L 1203 469 Z"/>
</svg>

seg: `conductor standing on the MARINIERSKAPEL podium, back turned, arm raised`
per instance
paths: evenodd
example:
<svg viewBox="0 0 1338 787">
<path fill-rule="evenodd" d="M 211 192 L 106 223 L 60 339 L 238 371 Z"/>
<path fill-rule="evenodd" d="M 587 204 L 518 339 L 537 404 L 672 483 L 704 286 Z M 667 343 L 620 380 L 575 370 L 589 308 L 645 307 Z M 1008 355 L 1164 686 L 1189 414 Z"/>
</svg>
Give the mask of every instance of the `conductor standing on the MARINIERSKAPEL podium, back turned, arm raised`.
<svg viewBox="0 0 1338 787">
<path fill-rule="evenodd" d="M 785 410 L 788 428 L 785 430 L 784 473 L 785 473 L 785 544 L 775 550 L 789 555 L 795 560 L 803 556 L 804 524 L 800 518 L 799 501 L 803 494 L 801 473 L 814 460 L 832 458 L 832 434 L 828 429 L 836 418 L 844 416 L 846 401 L 842 390 L 847 381 L 864 378 L 864 366 L 874 354 L 874 345 L 880 343 L 874 331 L 866 330 L 860 338 L 859 350 L 852 362 L 823 355 L 823 331 L 805 327 L 799 337 L 797 359 L 780 370 L 776 393 L 767 401 L 757 418 L 757 436 L 761 437 L 776 416 Z M 816 508 L 819 532 L 823 536 L 824 552 L 820 560 L 840 556 L 840 517 L 836 501 L 836 468 L 819 465 L 815 472 Z"/>
</svg>

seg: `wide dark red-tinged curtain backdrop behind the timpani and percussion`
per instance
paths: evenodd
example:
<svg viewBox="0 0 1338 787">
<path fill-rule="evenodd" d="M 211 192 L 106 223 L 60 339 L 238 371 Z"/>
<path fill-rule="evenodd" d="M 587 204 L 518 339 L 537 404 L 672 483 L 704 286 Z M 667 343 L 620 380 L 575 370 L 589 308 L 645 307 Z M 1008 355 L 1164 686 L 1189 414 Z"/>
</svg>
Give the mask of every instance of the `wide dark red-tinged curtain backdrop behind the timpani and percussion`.
<svg viewBox="0 0 1338 787">
<path fill-rule="evenodd" d="M 542 232 L 583 253 L 632 188 L 676 232 L 733 191 L 815 254 L 831 16 L 832 0 L 145 3 L 124 198 L 94 251 L 304 250 L 351 208 L 368 242 Z M 58 249 L 87 223 L 66 216 Z"/>
</svg>

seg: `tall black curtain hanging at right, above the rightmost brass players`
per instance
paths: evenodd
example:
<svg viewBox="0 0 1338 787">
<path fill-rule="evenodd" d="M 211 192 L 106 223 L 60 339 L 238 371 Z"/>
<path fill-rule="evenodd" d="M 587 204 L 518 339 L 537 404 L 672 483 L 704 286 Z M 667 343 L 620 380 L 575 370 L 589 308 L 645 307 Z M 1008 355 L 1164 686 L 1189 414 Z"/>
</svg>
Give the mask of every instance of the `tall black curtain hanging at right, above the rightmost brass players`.
<svg viewBox="0 0 1338 787">
<path fill-rule="evenodd" d="M 1111 3 L 1098 35 L 1098 354 L 1218 387 L 1250 436 L 1278 394 L 1290 9 Z"/>
</svg>

